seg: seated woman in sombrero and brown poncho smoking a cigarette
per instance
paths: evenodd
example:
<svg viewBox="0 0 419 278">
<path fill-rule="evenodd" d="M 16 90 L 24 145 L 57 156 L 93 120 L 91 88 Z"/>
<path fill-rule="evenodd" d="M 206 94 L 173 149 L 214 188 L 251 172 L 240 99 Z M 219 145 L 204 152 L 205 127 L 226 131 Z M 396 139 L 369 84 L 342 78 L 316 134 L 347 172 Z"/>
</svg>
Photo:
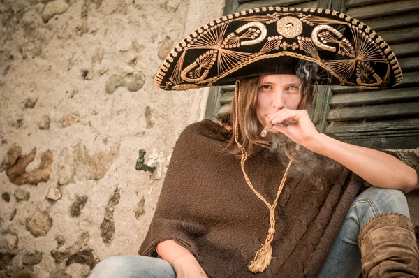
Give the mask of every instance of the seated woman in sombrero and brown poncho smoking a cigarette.
<svg viewBox="0 0 419 278">
<path fill-rule="evenodd" d="M 316 93 L 309 80 L 401 81 L 373 33 L 330 10 L 269 7 L 221 17 L 179 43 L 156 84 L 235 82 L 230 116 L 192 124 L 177 141 L 140 248 L 163 260 L 111 257 L 91 277 L 358 277 L 361 268 L 366 277 L 418 276 L 402 193 L 416 186 L 415 170 L 318 133 L 305 110 Z M 362 179 L 373 187 L 357 196 Z"/>
</svg>

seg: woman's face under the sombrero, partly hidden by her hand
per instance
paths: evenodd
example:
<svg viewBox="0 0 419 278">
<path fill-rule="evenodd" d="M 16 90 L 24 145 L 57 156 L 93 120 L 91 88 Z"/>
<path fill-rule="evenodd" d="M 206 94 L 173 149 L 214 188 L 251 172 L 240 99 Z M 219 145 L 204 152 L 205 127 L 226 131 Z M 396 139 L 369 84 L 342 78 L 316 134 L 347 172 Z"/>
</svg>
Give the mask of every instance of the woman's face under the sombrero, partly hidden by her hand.
<svg viewBox="0 0 419 278">
<path fill-rule="evenodd" d="M 302 100 L 301 80 L 297 75 L 266 75 L 258 87 L 256 112 L 262 126 L 268 124 L 267 115 L 281 109 L 297 109 Z"/>
</svg>

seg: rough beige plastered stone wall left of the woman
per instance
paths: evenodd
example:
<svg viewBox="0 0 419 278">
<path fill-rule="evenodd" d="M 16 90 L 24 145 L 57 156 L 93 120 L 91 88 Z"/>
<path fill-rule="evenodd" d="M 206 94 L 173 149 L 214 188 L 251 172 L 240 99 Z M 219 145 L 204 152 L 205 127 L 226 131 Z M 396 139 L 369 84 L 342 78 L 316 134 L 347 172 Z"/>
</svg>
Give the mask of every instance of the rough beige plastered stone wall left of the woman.
<svg viewBox="0 0 419 278">
<path fill-rule="evenodd" d="M 224 0 L 0 1 L 0 277 L 87 277 L 137 254 L 207 90 L 153 77 Z M 154 173 L 135 170 L 138 150 Z M 3 159 L 3 162 L 1 162 Z"/>
</svg>

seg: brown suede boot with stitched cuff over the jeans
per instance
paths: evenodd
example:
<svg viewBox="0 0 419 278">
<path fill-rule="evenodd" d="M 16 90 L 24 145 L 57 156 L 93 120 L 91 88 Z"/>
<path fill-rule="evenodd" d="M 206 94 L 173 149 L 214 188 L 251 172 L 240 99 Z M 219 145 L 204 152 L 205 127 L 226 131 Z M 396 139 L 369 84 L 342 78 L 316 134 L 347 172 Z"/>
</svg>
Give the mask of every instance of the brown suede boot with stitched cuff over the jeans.
<svg viewBox="0 0 419 278">
<path fill-rule="evenodd" d="M 358 236 L 364 277 L 419 277 L 413 224 L 403 214 L 380 214 Z"/>
</svg>

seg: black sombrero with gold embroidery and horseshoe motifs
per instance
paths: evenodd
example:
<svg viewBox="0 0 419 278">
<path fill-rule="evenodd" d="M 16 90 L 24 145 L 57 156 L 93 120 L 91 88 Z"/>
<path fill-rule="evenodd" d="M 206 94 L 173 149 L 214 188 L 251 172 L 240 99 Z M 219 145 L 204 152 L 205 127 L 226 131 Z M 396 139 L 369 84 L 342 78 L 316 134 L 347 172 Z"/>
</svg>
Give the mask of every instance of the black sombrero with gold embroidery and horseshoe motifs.
<svg viewBox="0 0 419 278">
<path fill-rule="evenodd" d="M 234 85 L 248 76 L 287 73 L 299 59 L 327 71 L 328 85 L 377 89 L 402 82 L 395 54 L 359 20 L 321 8 L 263 7 L 194 31 L 168 54 L 154 83 L 166 90 Z"/>
</svg>

